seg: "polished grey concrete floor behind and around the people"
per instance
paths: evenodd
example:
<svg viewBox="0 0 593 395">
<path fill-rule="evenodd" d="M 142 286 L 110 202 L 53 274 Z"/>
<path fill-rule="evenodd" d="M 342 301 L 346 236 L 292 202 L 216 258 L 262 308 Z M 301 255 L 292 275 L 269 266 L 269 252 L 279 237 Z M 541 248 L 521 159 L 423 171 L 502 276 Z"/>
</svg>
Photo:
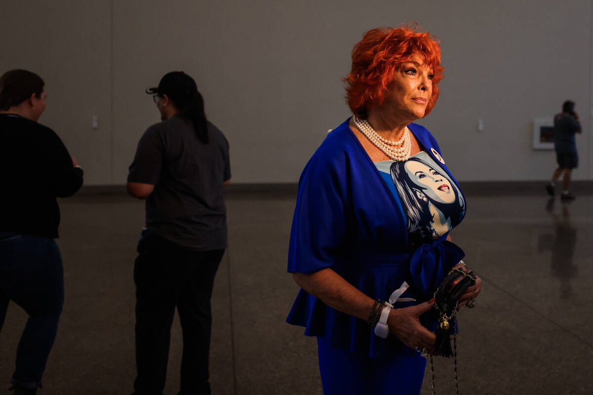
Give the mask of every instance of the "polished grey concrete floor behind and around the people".
<svg viewBox="0 0 593 395">
<path fill-rule="evenodd" d="M 60 205 L 66 303 L 40 393 L 129 394 L 143 203 L 80 195 Z M 315 339 L 284 321 L 298 291 L 286 274 L 294 196 L 236 192 L 227 205 L 229 248 L 212 297 L 213 393 L 321 394 Z M 462 394 L 593 393 L 592 205 L 593 195 L 569 204 L 543 194 L 468 196 L 452 237 L 483 291 L 476 309 L 459 314 Z M 0 383 L 11 377 L 25 320 L 11 304 Z M 166 395 L 178 389 L 180 352 L 176 319 Z M 435 365 L 438 393 L 453 393 L 452 360 Z M 430 387 L 427 369 L 422 394 Z"/>
</svg>

